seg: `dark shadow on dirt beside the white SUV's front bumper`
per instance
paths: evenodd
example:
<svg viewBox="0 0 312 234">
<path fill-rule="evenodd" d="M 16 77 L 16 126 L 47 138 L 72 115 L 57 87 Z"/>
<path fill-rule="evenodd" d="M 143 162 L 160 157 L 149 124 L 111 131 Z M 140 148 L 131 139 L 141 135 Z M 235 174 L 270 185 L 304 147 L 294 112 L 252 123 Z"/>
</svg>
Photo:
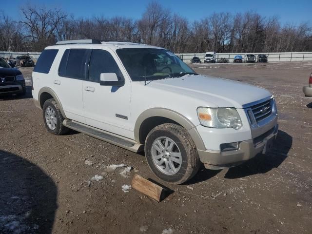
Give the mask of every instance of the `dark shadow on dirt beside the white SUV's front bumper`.
<svg viewBox="0 0 312 234">
<path fill-rule="evenodd" d="M 258 154 L 247 162 L 232 167 L 225 178 L 241 178 L 255 174 L 263 174 L 277 168 L 288 156 L 292 148 L 292 137 L 283 131 L 278 131 L 273 150 L 268 155 Z"/>
</svg>

